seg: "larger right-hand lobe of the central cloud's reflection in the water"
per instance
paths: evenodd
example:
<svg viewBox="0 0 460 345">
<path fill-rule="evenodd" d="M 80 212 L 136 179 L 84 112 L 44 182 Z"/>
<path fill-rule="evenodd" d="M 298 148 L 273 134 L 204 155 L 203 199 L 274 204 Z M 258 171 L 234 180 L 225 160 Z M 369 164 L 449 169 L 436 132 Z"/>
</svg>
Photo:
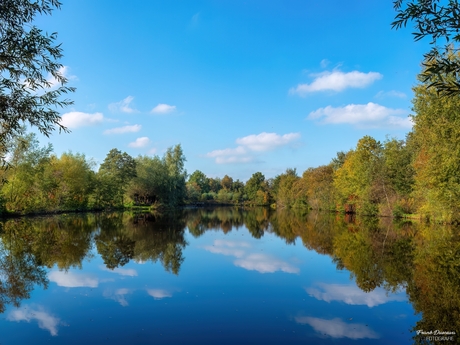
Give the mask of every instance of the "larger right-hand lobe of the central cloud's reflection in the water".
<svg viewBox="0 0 460 345">
<path fill-rule="evenodd" d="M 286 273 L 299 273 L 299 269 L 286 261 L 271 257 L 266 254 L 250 254 L 245 258 L 236 260 L 235 266 L 259 273 L 273 273 L 282 271 Z"/>
</svg>

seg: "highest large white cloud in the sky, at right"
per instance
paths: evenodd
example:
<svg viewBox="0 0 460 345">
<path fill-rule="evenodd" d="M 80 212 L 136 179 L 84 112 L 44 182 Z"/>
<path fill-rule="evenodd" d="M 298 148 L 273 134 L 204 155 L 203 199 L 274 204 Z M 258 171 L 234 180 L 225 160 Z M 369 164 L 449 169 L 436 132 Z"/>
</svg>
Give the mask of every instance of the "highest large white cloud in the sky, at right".
<svg viewBox="0 0 460 345">
<path fill-rule="evenodd" d="M 363 73 L 352 71 L 344 73 L 339 70 L 326 71 L 313 75 L 315 79 L 310 84 L 299 84 L 291 88 L 289 93 L 305 96 L 310 92 L 343 91 L 347 88 L 364 88 L 383 76 L 377 72 Z"/>
</svg>

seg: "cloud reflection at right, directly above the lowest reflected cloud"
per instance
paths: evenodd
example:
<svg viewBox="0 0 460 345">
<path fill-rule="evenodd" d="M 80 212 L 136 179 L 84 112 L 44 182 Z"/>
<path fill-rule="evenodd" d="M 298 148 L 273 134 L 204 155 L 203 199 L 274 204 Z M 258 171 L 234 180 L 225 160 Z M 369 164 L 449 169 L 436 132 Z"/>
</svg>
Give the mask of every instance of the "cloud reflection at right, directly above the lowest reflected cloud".
<svg viewBox="0 0 460 345">
<path fill-rule="evenodd" d="M 404 301 L 400 294 L 387 295 L 383 289 L 364 292 L 355 285 L 318 284 L 318 288 L 306 288 L 305 291 L 320 301 L 340 301 L 349 305 L 367 305 L 369 308 L 390 301 Z"/>
</svg>

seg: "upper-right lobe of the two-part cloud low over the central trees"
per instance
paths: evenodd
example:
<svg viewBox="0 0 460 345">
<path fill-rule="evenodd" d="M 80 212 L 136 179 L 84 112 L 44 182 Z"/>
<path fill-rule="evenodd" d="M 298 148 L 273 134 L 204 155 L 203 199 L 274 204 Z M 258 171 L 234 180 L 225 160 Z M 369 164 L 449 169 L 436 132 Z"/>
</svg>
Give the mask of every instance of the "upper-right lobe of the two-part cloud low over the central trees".
<svg viewBox="0 0 460 345">
<path fill-rule="evenodd" d="M 276 133 L 262 132 L 260 134 L 252 134 L 247 137 L 236 139 L 236 143 L 243 145 L 252 151 L 268 151 L 279 146 L 284 146 L 292 141 L 300 138 L 299 133 L 288 133 L 279 135 Z"/>
</svg>

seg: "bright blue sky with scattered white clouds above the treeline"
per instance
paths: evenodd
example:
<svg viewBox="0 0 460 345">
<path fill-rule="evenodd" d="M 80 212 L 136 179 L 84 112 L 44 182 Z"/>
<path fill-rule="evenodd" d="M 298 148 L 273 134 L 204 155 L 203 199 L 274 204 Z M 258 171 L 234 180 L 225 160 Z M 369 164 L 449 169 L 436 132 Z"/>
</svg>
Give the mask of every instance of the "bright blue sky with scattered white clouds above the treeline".
<svg viewBox="0 0 460 345">
<path fill-rule="evenodd" d="M 64 0 L 58 32 L 77 91 L 57 154 L 116 147 L 189 173 L 247 180 L 327 164 L 371 135 L 404 138 L 428 42 L 395 31 L 392 1 Z"/>
</svg>

